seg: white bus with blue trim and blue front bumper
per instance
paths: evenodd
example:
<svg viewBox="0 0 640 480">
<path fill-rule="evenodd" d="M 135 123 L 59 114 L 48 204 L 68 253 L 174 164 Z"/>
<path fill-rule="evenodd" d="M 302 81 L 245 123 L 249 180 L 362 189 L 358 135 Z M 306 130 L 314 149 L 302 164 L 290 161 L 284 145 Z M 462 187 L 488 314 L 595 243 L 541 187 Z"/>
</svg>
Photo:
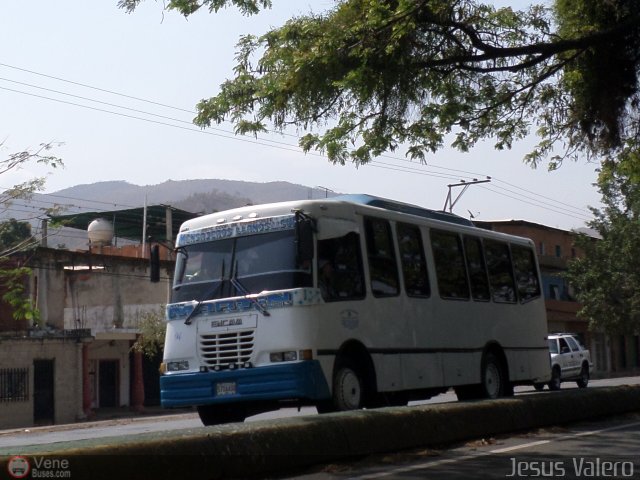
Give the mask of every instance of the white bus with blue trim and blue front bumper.
<svg viewBox="0 0 640 480">
<path fill-rule="evenodd" d="M 165 407 L 205 425 L 460 399 L 549 380 L 533 243 L 368 195 L 185 222 L 166 308 Z"/>
</svg>

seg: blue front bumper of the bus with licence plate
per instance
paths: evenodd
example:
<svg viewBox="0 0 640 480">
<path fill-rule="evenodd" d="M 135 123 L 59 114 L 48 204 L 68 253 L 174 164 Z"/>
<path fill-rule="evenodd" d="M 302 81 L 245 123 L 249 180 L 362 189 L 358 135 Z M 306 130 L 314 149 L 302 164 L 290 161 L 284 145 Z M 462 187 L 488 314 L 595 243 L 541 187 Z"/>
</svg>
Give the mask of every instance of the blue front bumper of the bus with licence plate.
<svg viewBox="0 0 640 480">
<path fill-rule="evenodd" d="M 160 377 L 163 407 L 269 400 L 322 400 L 329 386 L 315 360 Z"/>
</svg>

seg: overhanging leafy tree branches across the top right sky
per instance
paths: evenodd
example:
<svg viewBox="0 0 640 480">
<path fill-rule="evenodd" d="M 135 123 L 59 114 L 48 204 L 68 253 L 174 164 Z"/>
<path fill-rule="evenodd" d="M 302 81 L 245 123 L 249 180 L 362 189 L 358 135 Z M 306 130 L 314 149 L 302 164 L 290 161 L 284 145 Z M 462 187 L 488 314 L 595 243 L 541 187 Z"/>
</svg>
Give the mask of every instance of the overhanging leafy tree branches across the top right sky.
<svg viewBox="0 0 640 480">
<path fill-rule="evenodd" d="M 140 0 L 122 0 L 133 10 Z M 172 0 L 257 13 L 267 0 Z M 510 148 L 532 164 L 620 148 L 638 136 L 640 0 L 555 0 L 526 10 L 477 0 L 342 0 L 237 46 L 234 78 L 198 105 L 201 126 L 298 127 L 300 144 L 363 164 L 407 147 Z M 554 154 L 554 148 L 560 152 Z M 552 156 L 553 155 L 553 156 Z"/>
</svg>

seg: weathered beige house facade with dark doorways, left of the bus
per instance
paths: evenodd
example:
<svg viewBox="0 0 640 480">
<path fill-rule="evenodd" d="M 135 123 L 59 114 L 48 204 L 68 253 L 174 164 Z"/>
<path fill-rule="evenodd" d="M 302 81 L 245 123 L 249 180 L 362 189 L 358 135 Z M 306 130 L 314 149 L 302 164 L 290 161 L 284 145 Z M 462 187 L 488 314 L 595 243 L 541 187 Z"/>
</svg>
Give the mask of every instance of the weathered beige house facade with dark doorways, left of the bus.
<svg viewBox="0 0 640 480">
<path fill-rule="evenodd" d="M 163 263 L 161 281 L 152 283 L 149 260 L 131 246 L 30 252 L 23 265 L 32 271 L 28 292 L 40 320 L 17 330 L 7 321 L 0 331 L 0 428 L 73 422 L 95 409 L 140 410 L 158 401 L 157 373 L 131 347 L 140 321 L 163 315 L 173 262 Z"/>
</svg>

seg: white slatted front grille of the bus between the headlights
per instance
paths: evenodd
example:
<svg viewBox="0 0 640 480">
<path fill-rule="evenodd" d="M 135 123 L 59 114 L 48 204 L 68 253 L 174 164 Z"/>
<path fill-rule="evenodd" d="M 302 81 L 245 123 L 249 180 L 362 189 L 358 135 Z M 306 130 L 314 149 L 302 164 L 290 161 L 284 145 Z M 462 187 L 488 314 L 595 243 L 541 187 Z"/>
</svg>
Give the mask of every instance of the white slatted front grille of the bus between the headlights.
<svg viewBox="0 0 640 480">
<path fill-rule="evenodd" d="M 251 359 L 253 330 L 200 335 L 200 358 L 209 368 L 240 366 Z"/>
</svg>

